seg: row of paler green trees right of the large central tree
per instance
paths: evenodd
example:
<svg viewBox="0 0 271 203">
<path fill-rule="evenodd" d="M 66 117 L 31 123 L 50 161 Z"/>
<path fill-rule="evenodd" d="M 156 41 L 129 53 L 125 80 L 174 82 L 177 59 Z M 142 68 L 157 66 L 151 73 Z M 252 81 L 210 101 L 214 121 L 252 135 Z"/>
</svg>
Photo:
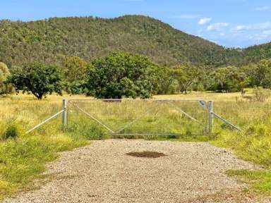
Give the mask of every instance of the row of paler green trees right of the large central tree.
<svg viewBox="0 0 271 203">
<path fill-rule="evenodd" d="M 169 84 L 160 94 L 186 94 L 189 91 L 244 92 L 249 87 L 271 87 L 271 60 L 248 66 L 210 68 L 189 63 L 167 67 Z"/>
</svg>

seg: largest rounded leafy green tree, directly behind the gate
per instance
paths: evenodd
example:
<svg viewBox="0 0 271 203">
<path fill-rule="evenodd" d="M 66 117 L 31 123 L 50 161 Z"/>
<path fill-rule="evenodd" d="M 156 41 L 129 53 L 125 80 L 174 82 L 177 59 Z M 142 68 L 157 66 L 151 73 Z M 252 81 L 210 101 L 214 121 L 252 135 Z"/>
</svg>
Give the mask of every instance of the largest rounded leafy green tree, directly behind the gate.
<svg viewBox="0 0 271 203">
<path fill-rule="evenodd" d="M 87 87 L 97 98 L 148 98 L 158 83 L 159 66 L 141 55 L 111 53 L 88 68 Z"/>
</svg>

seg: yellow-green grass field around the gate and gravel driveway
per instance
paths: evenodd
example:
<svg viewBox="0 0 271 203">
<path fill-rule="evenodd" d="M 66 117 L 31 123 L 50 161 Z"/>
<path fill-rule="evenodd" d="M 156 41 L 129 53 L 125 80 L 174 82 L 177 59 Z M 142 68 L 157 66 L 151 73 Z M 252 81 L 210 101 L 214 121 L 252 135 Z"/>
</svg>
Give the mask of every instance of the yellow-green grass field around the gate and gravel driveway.
<svg viewBox="0 0 271 203">
<path fill-rule="evenodd" d="M 83 96 L 67 99 L 85 99 Z M 253 161 L 267 169 L 271 169 L 271 100 L 250 102 L 240 93 L 215 94 L 192 92 L 187 95 L 160 95 L 156 99 L 203 99 L 214 101 L 214 111 L 231 123 L 243 129 L 242 133 L 231 130 L 224 123 L 215 120 L 212 136 L 195 137 L 192 134 L 202 133 L 200 125 L 191 122 L 176 109 L 159 106 L 149 117 L 143 117 L 124 132 L 148 130 L 153 133 L 181 133 L 186 137 L 151 136 L 146 139 L 206 141 L 219 147 L 231 149 L 241 159 Z M 52 95 L 37 101 L 31 95 L 12 95 L 0 98 L 0 199 L 12 195 L 18 190 L 32 187 L 32 180 L 39 178 L 47 161 L 56 159 L 57 152 L 71 150 L 88 144 L 88 140 L 109 138 L 106 130 L 94 125 L 83 113 L 72 109 L 69 112 L 68 128 L 61 126 L 61 116 L 42 126 L 34 133 L 25 135 L 25 131 L 37 125 L 45 118 L 61 110 L 63 97 Z M 152 107 L 152 104 L 127 105 L 119 103 L 97 104 L 78 102 L 78 106 L 95 114 L 113 130 L 125 127 Z M 205 110 L 195 103 L 176 104 L 186 109 L 191 115 L 205 121 Z M 110 106 L 110 108 L 107 108 Z M 113 106 L 113 107 L 112 107 Z M 102 107 L 102 108 L 101 108 Z M 95 111 L 93 110 L 95 109 Z M 112 110 L 113 109 L 113 110 Z M 119 110 L 118 110 L 119 109 Z M 118 110 L 118 111 L 117 111 Z M 159 111 L 158 111 L 159 110 Z M 183 122 L 183 123 L 181 123 Z M 92 125 L 92 124 L 93 125 Z M 145 123 L 143 125 L 143 123 Z M 146 124 L 147 123 L 147 124 Z M 178 123 L 185 128 L 179 128 Z M 90 125 L 91 124 L 91 125 Z M 144 127 L 142 127 L 144 126 Z M 141 131 L 141 132 L 143 132 Z M 13 137 L 13 138 L 12 138 Z M 133 137 L 131 137 L 133 138 Z M 137 138 L 135 136 L 135 138 Z M 242 181 L 251 183 L 253 190 L 270 194 L 270 172 L 265 171 L 228 171 L 230 176 L 238 176 Z"/>
</svg>

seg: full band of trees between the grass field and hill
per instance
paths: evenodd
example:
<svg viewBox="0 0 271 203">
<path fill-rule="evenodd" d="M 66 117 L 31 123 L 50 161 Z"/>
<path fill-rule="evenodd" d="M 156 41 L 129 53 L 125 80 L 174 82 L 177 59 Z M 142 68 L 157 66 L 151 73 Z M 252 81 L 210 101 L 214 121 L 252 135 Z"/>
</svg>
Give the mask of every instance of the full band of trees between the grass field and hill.
<svg viewBox="0 0 271 203">
<path fill-rule="evenodd" d="M 190 91 L 244 92 L 247 87 L 271 87 L 271 60 L 248 66 L 210 68 L 183 63 L 159 66 L 147 56 L 112 52 L 85 61 L 67 56 L 61 66 L 26 63 L 8 70 L 0 63 L 0 94 L 30 92 L 38 99 L 67 92 L 97 98 L 150 98 L 153 94 Z"/>
</svg>

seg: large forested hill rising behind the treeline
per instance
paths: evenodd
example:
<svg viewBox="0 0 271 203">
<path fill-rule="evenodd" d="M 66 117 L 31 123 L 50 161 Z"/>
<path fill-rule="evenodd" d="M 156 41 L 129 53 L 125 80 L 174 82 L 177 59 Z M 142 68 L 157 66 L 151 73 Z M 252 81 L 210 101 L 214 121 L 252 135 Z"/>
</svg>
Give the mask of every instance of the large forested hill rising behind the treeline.
<svg viewBox="0 0 271 203">
<path fill-rule="evenodd" d="M 109 51 L 144 54 L 169 66 L 183 62 L 224 66 L 244 63 L 246 58 L 245 50 L 224 49 L 145 16 L 49 18 L 27 23 L 1 20 L 0 31 L 0 61 L 8 66 L 29 61 L 59 63 L 64 56 L 90 61 Z"/>
</svg>

